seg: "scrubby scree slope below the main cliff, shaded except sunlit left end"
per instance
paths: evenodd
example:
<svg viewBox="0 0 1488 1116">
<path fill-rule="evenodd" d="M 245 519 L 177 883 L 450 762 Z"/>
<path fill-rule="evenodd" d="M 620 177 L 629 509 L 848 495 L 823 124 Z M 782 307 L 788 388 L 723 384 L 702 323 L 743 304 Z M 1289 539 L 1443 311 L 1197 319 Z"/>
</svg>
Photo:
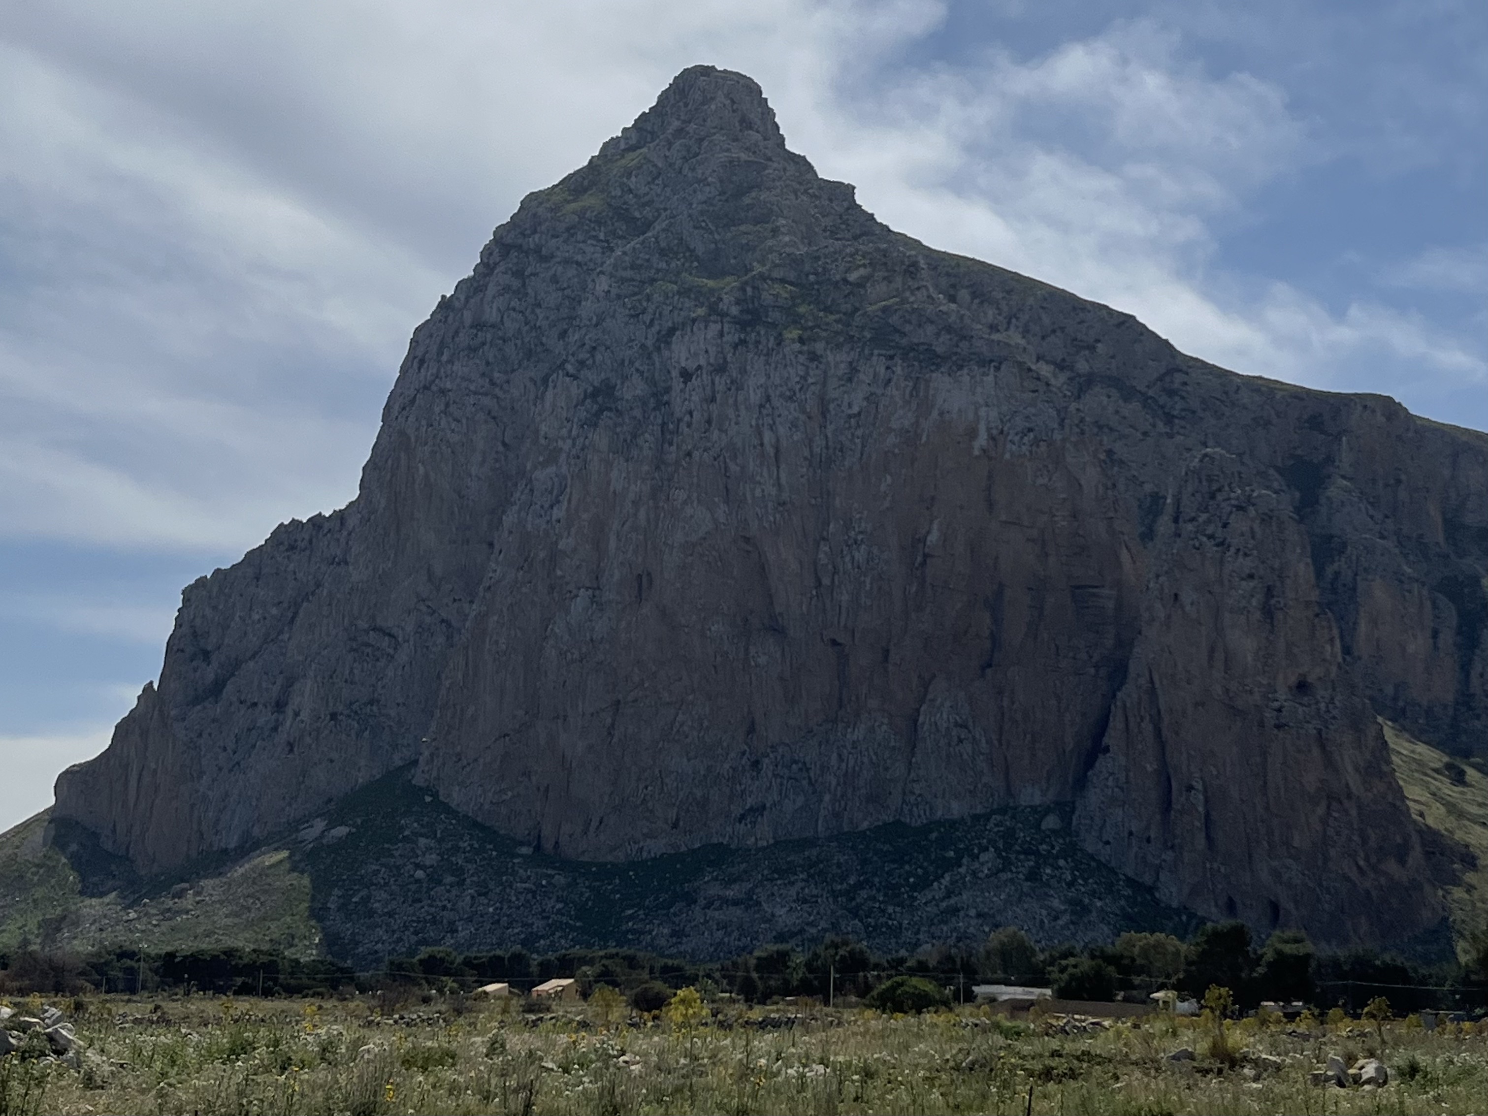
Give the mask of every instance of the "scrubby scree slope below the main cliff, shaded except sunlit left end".
<svg viewBox="0 0 1488 1116">
<path fill-rule="evenodd" d="M 37 815 L 0 838 L 0 949 L 237 945 L 371 969 L 432 945 L 720 958 L 850 934 L 912 952 L 1006 924 L 1052 945 L 1122 930 L 1186 934 L 1196 921 L 1097 862 L 1067 814 L 1046 806 L 594 863 L 522 848 L 402 771 L 231 863 L 159 879 L 132 878 L 88 848 L 86 833 L 58 839 L 64 859 L 43 845 L 46 823 Z"/>
</svg>

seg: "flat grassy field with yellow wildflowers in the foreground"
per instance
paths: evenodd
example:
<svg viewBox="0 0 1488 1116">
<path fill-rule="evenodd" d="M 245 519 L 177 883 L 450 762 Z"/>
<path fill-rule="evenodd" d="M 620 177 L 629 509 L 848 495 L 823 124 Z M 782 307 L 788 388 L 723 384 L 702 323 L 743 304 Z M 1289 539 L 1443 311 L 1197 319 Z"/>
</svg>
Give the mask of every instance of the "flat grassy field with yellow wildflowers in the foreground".
<svg viewBox="0 0 1488 1116">
<path fill-rule="evenodd" d="M 1488 1112 L 1488 1028 L 1415 1019 L 1382 1025 L 1391 1082 L 1370 1091 L 1308 1082 L 1330 1054 L 1381 1054 L 1357 1021 L 1232 1022 L 1217 1049 L 1189 1019 L 701 1004 L 643 1019 L 618 997 L 536 1015 L 439 997 L 110 995 L 70 1016 L 80 1068 L 0 1059 L 0 1113 Z M 1180 1048 L 1195 1058 L 1171 1059 Z"/>
</svg>

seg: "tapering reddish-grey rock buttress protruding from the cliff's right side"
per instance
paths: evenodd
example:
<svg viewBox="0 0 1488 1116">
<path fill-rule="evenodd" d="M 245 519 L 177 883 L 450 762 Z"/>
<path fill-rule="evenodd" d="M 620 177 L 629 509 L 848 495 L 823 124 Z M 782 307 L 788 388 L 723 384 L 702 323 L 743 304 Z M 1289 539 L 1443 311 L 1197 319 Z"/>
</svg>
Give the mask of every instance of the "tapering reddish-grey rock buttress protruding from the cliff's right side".
<svg viewBox="0 0 1488 1116">
<path fill-rule="evenodd" d="M 1357 881 L 1388 896 L 1430 873 L 1278 490 L 1219 449 L 1184 469 L 1076 832 L 1180 906 L 1263 927 L 1305 920 L 1330 940 L 1399 939 L 1415 914 L 1385 903 L 1366 917 Z"/>
</svg>

